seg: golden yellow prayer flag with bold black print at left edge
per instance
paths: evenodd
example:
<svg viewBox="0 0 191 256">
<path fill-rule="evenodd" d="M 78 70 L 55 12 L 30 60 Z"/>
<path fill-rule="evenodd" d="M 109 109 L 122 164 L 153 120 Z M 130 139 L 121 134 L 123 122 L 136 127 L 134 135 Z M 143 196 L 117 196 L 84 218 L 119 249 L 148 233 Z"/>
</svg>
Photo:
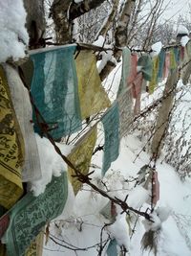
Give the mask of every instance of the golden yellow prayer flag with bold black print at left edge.
<svg viewBox="0 0 191 256">
<path fill-rule="evenodd" d="M 11 103 L 5 72 L 0 66 L 0 205 L 6 209 L 22 196 L 23 140 Z"/>
</svg>

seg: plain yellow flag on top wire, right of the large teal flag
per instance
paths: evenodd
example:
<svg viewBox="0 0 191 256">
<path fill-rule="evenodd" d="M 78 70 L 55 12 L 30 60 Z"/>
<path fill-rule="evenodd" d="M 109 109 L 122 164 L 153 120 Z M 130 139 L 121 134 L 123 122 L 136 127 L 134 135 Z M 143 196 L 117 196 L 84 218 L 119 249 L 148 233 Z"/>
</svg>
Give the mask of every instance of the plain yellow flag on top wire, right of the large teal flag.
<svg viewBox="0 0 191 256">
<path fill-rule="evenodd" d="M 101 85 L 92 51 L 80 51 L 75 59 L 81 118 L 86 119 L 111 105 Z"/>
</svg>

